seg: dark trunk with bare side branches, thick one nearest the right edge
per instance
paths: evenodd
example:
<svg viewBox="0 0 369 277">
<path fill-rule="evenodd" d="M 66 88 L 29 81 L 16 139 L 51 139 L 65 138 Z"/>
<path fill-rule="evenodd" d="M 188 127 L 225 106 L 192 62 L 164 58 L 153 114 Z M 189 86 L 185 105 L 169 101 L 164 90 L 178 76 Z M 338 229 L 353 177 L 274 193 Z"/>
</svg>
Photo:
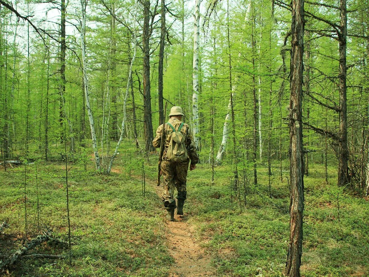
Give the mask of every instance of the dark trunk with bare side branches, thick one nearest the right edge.
<svg viewBox="0 0 369 277">
<path fill-rule="evenodd" d="M 339 34 L 339 142 L 338 142 L 338 186 L 350 182 L 348 172 L 349 150 L 347 145 L 347 107 L 346 107 L 346 0 L 340 0 L 341 22 Z"/>
</svg>

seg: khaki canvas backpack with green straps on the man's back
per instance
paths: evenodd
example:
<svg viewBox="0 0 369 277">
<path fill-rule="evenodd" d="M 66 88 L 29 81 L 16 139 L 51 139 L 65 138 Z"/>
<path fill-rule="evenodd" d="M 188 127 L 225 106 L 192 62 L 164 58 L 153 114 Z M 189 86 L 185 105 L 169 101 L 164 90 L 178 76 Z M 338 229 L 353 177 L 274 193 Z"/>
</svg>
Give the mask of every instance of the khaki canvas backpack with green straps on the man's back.
<svg viewBox="0 0 369 277">
<path fill-rule="evenodd" d="M 169 161 L 175 162 L 185 162 L 188 160 L 187 156 L 187 148 L 184 145 L 184 136 L 180 132 L 183 127 L 183 122 L 179 125 L 178 130 L 174 129 L 173 125 L 169 122 L 167 123 L 173 130 L 172 135 L 170 136 L 170 142 L 168 146 L 168 150 L 166 151 L 166 157 Z"/>
</svg>

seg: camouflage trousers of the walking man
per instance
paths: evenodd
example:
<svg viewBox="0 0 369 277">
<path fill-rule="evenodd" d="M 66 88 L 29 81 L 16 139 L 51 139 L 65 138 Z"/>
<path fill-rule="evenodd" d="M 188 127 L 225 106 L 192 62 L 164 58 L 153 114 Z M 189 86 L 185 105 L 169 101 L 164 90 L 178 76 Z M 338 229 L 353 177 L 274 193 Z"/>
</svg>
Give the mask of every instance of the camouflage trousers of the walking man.
<svg viewBox="0 0 369 277">
<path fill-rule="evenodd" d="M 178 193 L 177 198 L 186 200 L 188 164 L 189 162 L 162 161 L 161 171 L 164 179 L 163 200 L 173 199 L 175 188 L 177 188 L 178 192 L 182 192 Z"/>
</svg>

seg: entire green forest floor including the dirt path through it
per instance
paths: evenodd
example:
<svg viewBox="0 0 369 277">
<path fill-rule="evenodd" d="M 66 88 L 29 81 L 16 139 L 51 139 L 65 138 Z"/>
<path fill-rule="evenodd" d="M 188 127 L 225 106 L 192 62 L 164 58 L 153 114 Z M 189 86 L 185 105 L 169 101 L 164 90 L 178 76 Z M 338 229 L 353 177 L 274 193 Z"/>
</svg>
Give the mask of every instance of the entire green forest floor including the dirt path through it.
<svg viewBox="0 0 369 277">
<path fill-rule="evenodd" d="M 270 197 L 266 166 L 258 165 L 255 186 L 247 181 L 252 170 L 246 164 L 244 186 L 239 164 L 240 200 L 230 186 L 234 165 L 215 168 L 212 184 L 211 167 L 199 164 L 188 175 L 185 216 L 167 222 L 155 184 L 157 156 L 136 153 L 127 142 L 122 149 L 110 175 L 94 172 L 91 157 L 86 171 L 83 155 L 68 164 L 72 265 L 68 259 L 22 259 L 9 269 L 10 276 L 282 275 L 289 238 L 288 161 L 283 161 L 282 181 L 279 164 L 273 164 Z M 0 224 L 9 224 L 0 232 L 0 259 L 25 239 L 24 183 L 27 239 L 37 236 L 39 226 L 67 240 L 65 173 L 62 161 L 0 168 Z M 311 162 L 304 178 L 301 273 L 368 276 L 368 198 L 337 188 L 334 165 L 328 177 L 325 184 L 323 165 Z M 69 252 L 44 243 L 31 253 Z"/>
</svg>

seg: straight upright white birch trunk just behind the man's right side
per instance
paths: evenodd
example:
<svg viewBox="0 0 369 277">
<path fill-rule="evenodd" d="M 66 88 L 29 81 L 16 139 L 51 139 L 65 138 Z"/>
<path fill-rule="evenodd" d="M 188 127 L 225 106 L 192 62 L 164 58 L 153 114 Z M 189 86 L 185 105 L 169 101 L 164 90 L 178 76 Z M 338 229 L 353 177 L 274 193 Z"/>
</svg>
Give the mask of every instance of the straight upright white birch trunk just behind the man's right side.
<svg viewBox="0 0 369 277">
<path fill-rule="evenodd" d="M 199 147 L 199 42 L 200 42 L 200 0 L 195 0 L 194 32 L 193 32 L 193 94 L 192 94 L 192 126 L 196 148 Z"/>
</svg>

